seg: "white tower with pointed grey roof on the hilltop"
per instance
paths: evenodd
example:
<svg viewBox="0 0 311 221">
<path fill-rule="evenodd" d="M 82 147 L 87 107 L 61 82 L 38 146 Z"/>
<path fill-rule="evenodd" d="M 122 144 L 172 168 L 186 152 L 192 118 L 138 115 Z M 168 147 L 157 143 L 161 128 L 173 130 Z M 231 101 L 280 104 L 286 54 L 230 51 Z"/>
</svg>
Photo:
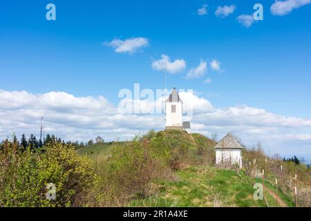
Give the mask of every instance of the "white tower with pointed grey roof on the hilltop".
<svg viewBox="0 0 311 221">
<path fill-rule="evenodd" d="M 176 88 L 173 88 L 171 95 L 165 102 L 166 128 L 182 130 L 182 100 Z"/>
</svg>

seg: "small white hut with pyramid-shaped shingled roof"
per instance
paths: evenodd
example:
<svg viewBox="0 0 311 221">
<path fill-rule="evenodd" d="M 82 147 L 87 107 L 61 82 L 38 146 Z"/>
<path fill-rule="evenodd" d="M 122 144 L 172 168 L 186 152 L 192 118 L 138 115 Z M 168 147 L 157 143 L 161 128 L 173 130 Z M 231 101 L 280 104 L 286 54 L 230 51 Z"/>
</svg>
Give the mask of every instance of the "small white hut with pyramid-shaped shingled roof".
<svg viewBox="0 0 311 221">
<path fill-rule="evenodd" d="M 242 168 L 242 150 L 243 146 L 228 133 L 215 146 L 216 164 L 223 166 L 234 166 L 236 164 Z"/>
</svg>

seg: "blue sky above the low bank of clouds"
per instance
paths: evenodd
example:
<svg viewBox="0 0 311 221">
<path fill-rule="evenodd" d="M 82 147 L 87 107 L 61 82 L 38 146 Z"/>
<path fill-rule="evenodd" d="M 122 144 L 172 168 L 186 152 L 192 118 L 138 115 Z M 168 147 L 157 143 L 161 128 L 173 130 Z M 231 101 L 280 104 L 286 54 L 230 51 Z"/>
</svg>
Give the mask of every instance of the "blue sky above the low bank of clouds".
<svg viewBox="0 0 311 221">
<path fill-rule="evenodd" d="M 46 20 L 48 3 L 56 6 L 56 21 Z M 263 4 L 264 19 L 247 28 L 237 17 L 252 15 L 254 3 Z M 216 17 L 218 6 L 233 4 L 232 14 Z M 162 72 L 154 70 L 152 63 L 167 55 L 172 62 L 183 59 L 187 65 L 168 75 L 168 88 L 194 89 L 198 97 L 217 108 L 245 105 L 308 121 L 311 4 L 298 4 L 281 16 L 272 15 L 272 4 L 274 1 L 252 0 L 4 1 L 0 9 L 0 89 L 33 95 L 56 91 L 75 97 L 103 96 L 117 106 L 119 90 L 133 89 L 134 83 L 162 88 Z M 205 5 L 207 14 L 198 15 Z M 113 39 L 135 37 L 148 39 L 149 44 L 133 53 L 118 53 L 107 45 Z M 220 61 L 220 71 L 209 67 L 214 59 Z M 204 77 L 187 79 L 189 70 L 201 60 L 208 66 Z M 204 83 L 205 79 L 211 83 Z M 292 128 L 286 133 L 293 135 L 296 130 L 311 136 L 310 128 Z M 12 131 L 18 129 L 12 127 Z M 70 132 L 60 134 L 71 137 Z M 301 153 L 310 153 L 311 138 L 303 142 Z M 290 146 L 290 142 L 280 144 L 279 152 L 284 145 Z"/>
</svg>

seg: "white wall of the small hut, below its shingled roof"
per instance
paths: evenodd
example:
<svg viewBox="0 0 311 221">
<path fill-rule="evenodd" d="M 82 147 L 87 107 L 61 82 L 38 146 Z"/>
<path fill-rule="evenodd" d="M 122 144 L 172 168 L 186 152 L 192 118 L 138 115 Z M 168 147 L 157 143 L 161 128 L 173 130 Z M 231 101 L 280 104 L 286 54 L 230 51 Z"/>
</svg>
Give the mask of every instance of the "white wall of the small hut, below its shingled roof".
<svg viewBox="0 0 311 221">
<path fill-rule="evenodd" d="M 239 164 L 242 167 L 242 149 L 216 149 L 216 164 L 222 162 L 232 162 L 232 164 Z"/>
</svg>

